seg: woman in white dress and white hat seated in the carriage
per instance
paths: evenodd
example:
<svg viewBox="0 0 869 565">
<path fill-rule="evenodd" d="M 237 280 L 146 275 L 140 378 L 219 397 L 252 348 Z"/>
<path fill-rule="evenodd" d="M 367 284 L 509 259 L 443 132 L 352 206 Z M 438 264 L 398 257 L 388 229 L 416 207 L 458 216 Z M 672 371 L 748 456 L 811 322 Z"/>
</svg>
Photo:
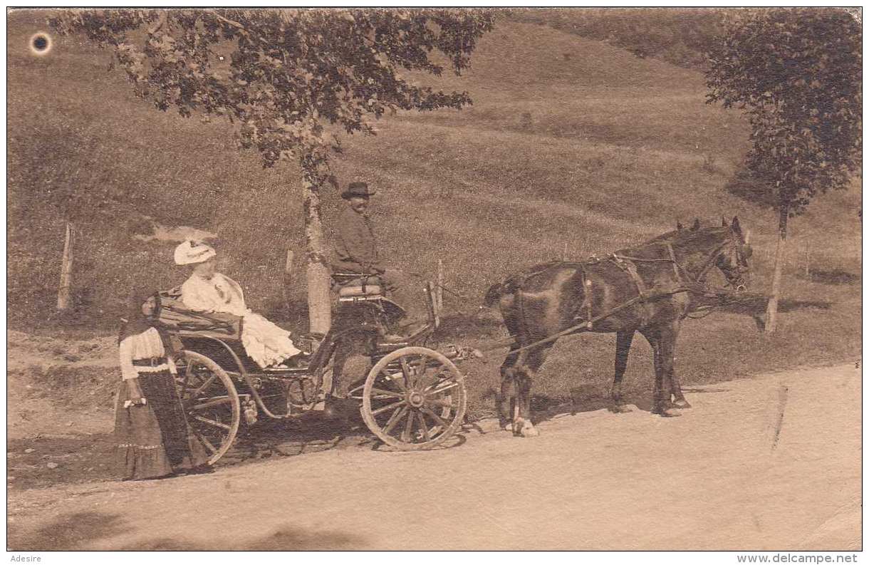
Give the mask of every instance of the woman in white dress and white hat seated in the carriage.
<svg viewBox="0 0 869 565">
<path fill-rule="evenodd" d="M 244 303 L 242 287 L 229 276 L 216 272 L 216 251 L 204 243 L 184 242 L 175 249 L 175 263 L 196 265 L 181 286 L 181 300 L 200 312 L 227 312 L 242 317 L 242 345 L 257 365 L 280 366 L 302 353 L 289 339 L 289 331 L 251 312 Z"/>
</svg>

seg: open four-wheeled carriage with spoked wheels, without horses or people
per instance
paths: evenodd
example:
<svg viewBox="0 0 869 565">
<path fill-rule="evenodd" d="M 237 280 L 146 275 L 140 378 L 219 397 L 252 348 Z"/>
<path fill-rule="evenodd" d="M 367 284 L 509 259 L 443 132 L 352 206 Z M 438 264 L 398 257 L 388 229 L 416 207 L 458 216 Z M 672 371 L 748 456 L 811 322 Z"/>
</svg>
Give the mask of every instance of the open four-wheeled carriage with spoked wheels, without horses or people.
<svg viewBox="0 0 869 565">
<path fill-rule="evenodd" d="M 262 415 L 295 418 L 322 409 L 326 394 L 339 386 L 341 396 L 361 402 L 368 429 L 395 449 L 433 448 L 461 425 L 467 392 L 454 361 L 469 351 L 428 347 L 436 324 L 431 293 L 429 323 L 397 341 L 392 330 L 403 310 L 375 278 L 334 279 L 332 328 L 325 336 L 294 336 L 304 352 L 280 368 L 261 369 L 245 354 L 242 318 L 192 312 L 175 290 L 155 296 L 152 316 L 175 344 L 178 395 L 209 463 L 227 453 L 242 425 Z M 367 375 L 342 374 L 354 352 L 368 356 Z"/>
</svg>

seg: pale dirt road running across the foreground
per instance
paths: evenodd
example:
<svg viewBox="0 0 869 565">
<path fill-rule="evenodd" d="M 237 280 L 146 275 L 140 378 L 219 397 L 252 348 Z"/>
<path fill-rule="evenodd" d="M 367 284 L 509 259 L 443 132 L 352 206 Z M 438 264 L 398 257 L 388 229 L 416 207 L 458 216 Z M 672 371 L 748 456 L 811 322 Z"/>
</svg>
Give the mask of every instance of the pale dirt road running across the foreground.
<svg viewBox="0 0 869 565">
<path fill-rule="evenodd" d="M 859 549 L 854 364 L 596 410 L 541 436 L 324 451 L 156 482 L 10 492 L 12 549 Z"/>
</svg>

